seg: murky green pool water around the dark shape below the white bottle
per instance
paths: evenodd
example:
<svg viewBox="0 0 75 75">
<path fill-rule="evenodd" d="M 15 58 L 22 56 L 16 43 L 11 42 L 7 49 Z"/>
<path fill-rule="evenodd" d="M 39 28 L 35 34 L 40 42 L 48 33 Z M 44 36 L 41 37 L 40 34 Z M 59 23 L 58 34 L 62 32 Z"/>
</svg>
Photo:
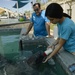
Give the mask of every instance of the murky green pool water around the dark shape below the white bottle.
<svg viewBox="0 0 75 75">
<path fill-rule="evenodd" d="M 47 62 L 41 64 L 38 68 L 33 68 L 27 64 L 26 60 L 33 54 L 32 50 L 46 49 L 45 44 L 43 45 L 44 47 L 36 48 L 39 46 L 38 44 L 28 44 L 26 47 L 28 51 L 26 51 L 27 49 L 20 51 L 19 34 L 1 34 L 0 53 L 4 55 L 7 60 L 7 64 L 5 65 L 7 75 L 67 75 L 57 62 L 55 62 L 55 65 L 50 65 Z M 32 50 L 30 50 L 30 48 Z M 0 72 L 0 75 L 3 74 Z"/>
</svg>

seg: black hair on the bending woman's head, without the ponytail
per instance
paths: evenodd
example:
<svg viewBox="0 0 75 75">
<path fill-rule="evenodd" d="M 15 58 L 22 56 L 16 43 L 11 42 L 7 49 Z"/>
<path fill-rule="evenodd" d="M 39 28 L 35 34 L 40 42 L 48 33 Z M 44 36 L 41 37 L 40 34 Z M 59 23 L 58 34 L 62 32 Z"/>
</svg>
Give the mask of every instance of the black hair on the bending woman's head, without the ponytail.
<svg viewBox="0 0 75 75">
<path fill-rule="evenodd" d="M 45 16 L 49 16 L 51 18 L 62 18 L 63 9 L 57 3 L 51 3 L 46 8 Z"/>
</svg>

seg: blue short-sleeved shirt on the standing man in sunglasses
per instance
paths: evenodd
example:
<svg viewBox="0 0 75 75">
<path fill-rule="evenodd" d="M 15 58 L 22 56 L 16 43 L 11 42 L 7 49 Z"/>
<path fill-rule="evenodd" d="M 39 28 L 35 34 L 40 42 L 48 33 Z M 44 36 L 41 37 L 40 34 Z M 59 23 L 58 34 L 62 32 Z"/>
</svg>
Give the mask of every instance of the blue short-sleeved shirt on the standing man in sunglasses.
<svg viewBox="0 0 75 75">
<path fill-rule="evenodd" d="M 39 16 L 36 15 L 34 12 L 32 14 L 32 17 L 30 19 L 31 22 L 33 22 L 33 29 L 34 29 L 34 35 L 35 36 L 47 36 L 47 30 L 46 30 L 46 22 L 50 22 L 47 17 L 45 16 L 45 11 L 41 11 L 41 14 Z"/>
</svg>

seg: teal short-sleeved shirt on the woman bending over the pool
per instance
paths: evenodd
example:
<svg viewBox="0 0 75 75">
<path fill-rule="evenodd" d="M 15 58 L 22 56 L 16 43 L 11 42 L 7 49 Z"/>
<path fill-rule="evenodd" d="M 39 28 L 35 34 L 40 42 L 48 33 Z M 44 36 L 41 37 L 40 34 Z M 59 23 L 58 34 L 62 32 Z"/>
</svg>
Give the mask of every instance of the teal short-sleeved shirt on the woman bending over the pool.
<svg viewBox="0 0 75 75">
<path fill-rule="evenodd" d="M 59 38 L 65 39 L 64 49 L 69 52 L 75 52 L 75 23 L 66 18 L 62 24 L 57 24 Z"/>
</svg>

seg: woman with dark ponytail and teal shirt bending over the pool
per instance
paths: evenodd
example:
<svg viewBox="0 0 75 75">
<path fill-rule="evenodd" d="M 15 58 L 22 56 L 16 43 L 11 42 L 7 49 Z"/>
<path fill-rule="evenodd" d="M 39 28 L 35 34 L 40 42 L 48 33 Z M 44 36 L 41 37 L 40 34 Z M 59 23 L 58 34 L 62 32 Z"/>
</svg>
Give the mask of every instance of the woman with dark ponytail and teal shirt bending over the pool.
<svg viewBox="0 0 75 75">
<path fill-rule="evenodd" d="M 58 53 L 62 47 L 64 50 L 75 55 L 75 23 L 70 19 L 71 17 L 63 14 L 63 8 L 58 3 L 49 4 L 45 15 L 51 23 L 57 24 L 58 38 L 49 46 L 53 51 L 44 63 Z"/>
</svg>

